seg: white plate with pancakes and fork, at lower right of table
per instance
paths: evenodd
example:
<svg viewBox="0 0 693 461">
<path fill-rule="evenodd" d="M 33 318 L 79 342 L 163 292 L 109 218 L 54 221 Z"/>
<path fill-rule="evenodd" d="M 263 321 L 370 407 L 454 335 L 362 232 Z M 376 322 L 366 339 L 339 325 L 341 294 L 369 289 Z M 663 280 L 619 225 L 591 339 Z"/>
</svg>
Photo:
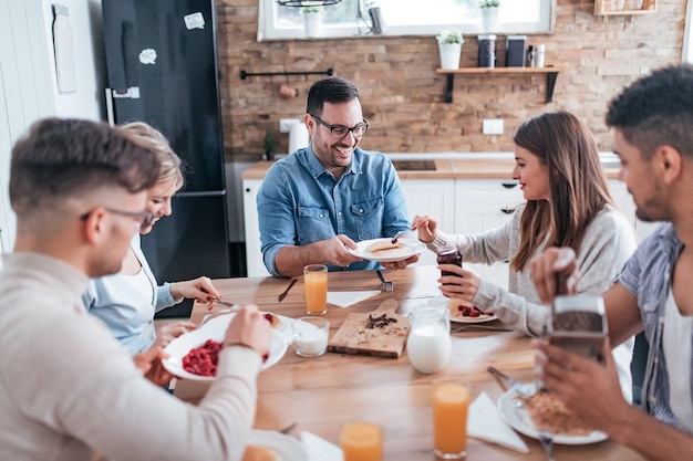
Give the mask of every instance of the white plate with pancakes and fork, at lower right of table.
<svg viewBox="0 0 693 461">
<path fill-rule="evenodd" d="M 539 391 L 524 399 L 515 389 L 508 389 L 498 397 L 498 410 L 513 429 L 532 439 L 539 438 L 534 421 L 544 421 L 541 426 L 551 433 L 555 443 L 581 446 L 608 438 L 603 432 L 587 428 L 549 392 Z"/>
</svg>

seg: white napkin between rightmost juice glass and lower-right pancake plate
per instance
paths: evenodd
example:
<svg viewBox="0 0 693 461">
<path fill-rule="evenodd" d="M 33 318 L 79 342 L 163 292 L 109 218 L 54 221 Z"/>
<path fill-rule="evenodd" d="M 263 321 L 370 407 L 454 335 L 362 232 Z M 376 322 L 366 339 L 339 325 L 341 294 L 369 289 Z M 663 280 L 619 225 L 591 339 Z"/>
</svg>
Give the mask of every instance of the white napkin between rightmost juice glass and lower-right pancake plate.
<svg viewBox="0 0 693 461">
<path fill-rule="evenodd" d="M 475 439 L 529 453 L 525 441 L 503 420 L 500 411 L 486 392 L 482 392 L 469 406 L 467 433 Z"/>
</svg>

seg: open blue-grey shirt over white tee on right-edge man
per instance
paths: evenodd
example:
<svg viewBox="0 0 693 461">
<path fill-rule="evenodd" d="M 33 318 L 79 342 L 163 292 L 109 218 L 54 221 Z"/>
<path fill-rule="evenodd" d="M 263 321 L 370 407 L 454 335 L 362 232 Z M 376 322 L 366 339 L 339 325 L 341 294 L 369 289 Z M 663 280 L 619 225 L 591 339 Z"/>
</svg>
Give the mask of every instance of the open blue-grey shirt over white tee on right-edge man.
<svg viewBox="0 0 693 461">
<path fill-rule="evenodd" d="M 673 226 L 662 224 L 640 244 L 619 276 L 619 282 L 638 298 L 645 337 L 650 343 L 642 386 L 642 406 L 655 419 L 675 428 L 680 425 L 670 407 L 670 377 L 664 362 L 662 332 L 671 275 L 682 248 Z M 693 356 L 690 360 L 691 368 L 681 373 L 690 373 L 693 376 Z M 675 379 L 675 376 L 671 379 Z M 693 379 L 691 383 L 693 384 Z M 693 400 L 693 385 L 691 399 Z"/>
</svg>

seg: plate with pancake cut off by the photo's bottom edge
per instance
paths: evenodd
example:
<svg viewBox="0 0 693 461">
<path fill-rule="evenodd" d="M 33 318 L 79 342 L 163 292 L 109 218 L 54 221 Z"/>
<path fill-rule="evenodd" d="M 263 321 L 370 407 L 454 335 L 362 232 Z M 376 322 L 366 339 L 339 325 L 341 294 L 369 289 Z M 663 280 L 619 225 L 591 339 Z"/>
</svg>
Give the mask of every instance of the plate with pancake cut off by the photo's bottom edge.
<svg viewBox="0 0 693 461">
<path fill-rule="evenodd" d="M 269 430 L 252 430 L 241 461 L 306 461 L 301 442 L 290 436 Z"/>
</svg>

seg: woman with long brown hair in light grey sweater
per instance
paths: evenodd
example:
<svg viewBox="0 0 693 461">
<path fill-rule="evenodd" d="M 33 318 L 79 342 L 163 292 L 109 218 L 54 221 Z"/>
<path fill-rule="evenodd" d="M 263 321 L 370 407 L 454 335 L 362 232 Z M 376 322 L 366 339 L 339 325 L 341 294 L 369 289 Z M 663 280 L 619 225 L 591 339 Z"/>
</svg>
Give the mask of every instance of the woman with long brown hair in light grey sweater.
<svg viewBox="0 0 693 461">
<path fill-rule="evenodd" d="M 632 226 L 619 212 L 608 190 L 599 150 L 590 129 L 568 112 L 539 115 L 515 135 L 515 169 L 526 203 L 497 229 L 467 235 L 437 230 L 434 218 L 416 217 L 412 229 L 428 249 L 455 247 L 470 263 L 510 261 L 508 290 L 472 271 L 442 265 L 455 273 L 441 277 L 442 293 L 482 312 L 494 312 L 505 324 L 540 335 L 550 318 L 529 276 L 529 260 L 547 247 L 571 247 L 581 279 L 577 293 L 601 295 L 613 282 L 638 243 Z M 617 352 L 630 383 L 632 342 Z M 616 349 L 614 349 L 616 350 Z M 627 389 L 630 394 L 630 385 Z"/>
</svg>

